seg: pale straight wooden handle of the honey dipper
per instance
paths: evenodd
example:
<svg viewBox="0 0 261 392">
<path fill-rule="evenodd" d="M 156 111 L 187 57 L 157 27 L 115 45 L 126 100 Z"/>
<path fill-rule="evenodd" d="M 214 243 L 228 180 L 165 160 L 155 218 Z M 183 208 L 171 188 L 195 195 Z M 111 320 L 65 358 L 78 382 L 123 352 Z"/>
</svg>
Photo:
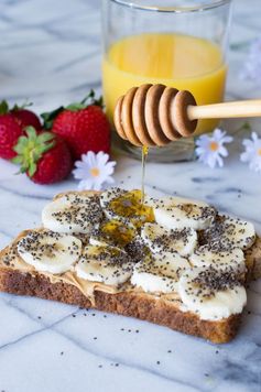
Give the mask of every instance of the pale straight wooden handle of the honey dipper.
<svg viewBox="0 0 261 392">
<path fill-rule="evenodd" d="M 189 120 L 261 117 L 261 99 L 241 100 L 235 102 L 224 102 L 205 106 L 188 106 L 187 115 Z"/>
</svg>

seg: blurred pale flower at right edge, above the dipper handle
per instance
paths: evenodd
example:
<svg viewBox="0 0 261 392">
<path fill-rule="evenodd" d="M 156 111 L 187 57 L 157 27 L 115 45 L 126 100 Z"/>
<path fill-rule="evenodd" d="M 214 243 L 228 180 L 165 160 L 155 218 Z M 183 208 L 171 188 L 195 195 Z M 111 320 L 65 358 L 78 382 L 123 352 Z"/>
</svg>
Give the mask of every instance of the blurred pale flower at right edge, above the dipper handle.
<svg viewBox="0 0 261 392">
<path fill-rule="evenodd" d="M 240 77 L 261 84 L 261 37 L 254 40 L 249 50 L 249 55 L 243 65 Z"/>
</svg>

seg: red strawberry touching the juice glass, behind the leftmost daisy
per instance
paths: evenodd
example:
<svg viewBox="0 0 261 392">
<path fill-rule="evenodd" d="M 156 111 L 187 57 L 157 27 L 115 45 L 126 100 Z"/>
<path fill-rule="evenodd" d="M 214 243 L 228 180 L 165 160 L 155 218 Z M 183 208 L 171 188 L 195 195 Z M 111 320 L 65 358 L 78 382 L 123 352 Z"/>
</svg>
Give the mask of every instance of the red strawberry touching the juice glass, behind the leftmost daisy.
<svg viewBox="0 0 261 392">
<path fill-rule="evenodd" d="M 81 102 L 61 107 L 42 117 L 45 128 L 52 128 L 52 132 L 67 142 L 75 160 L 88 151 L 109 153 L 110 124 L 102 111 L 101 99 L 96 100 L 93 90 Z"/>
</svg>

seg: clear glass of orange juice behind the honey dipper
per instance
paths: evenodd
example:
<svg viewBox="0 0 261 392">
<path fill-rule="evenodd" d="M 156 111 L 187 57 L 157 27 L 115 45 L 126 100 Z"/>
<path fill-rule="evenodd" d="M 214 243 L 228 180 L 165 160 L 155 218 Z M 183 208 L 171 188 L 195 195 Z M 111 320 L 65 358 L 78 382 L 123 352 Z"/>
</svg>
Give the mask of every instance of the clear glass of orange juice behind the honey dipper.
<svg viewBox="0 0 261 392">
<path fill-rule="evenodd" d="M 117 99 L 145 83 L 189 90 L 198 105 L 221 102 L 230 10 L 231 0 L 104 0 L 102 89 L 111 122 Z M 217 124 L 200 120 L 196 134 Z M 140 156 L 116 132 L 113 146 Z M 150 149 L 154 161 L 193 157 L 193 138 Z"/>
</svg>

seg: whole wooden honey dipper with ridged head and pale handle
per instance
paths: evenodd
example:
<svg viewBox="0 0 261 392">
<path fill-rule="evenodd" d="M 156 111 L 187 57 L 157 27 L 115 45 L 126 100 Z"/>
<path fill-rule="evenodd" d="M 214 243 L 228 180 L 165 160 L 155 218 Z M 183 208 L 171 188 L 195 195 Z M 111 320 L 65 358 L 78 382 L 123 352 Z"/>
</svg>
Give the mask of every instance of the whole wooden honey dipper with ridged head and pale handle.
<svg viewBox="0 0 261 392">
<path fill-rule="evenodd" d="M 119 135 L 134 145 L 165 145 L 191 137 L 199 119 L 261 116 L 261 100 L 197 106 L 189 91 L 164 85 L 132 87 L 115 109 Z"/>
</svg>

